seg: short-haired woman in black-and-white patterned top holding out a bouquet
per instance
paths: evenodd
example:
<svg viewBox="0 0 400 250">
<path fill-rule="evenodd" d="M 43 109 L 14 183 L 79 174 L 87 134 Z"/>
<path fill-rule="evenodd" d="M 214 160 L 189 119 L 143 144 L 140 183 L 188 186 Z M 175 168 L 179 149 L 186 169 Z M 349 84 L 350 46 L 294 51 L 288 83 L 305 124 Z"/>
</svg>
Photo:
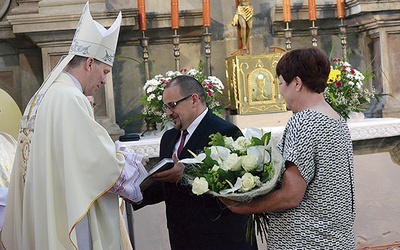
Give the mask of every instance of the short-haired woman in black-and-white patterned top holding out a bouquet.
<svg viewBox="0 0 400 250">
<path fill-rule="evenodd" d="M 281 185 L 250 203 L 222 199 L 235 213 L 268 214 L 268 249 L 355 248 L 353 148 L 346 121 L 323 97 L 329 71 L 317 48 L 281 58 L 276 73 L 294 112 L 278 145 Z"/>
</svg>

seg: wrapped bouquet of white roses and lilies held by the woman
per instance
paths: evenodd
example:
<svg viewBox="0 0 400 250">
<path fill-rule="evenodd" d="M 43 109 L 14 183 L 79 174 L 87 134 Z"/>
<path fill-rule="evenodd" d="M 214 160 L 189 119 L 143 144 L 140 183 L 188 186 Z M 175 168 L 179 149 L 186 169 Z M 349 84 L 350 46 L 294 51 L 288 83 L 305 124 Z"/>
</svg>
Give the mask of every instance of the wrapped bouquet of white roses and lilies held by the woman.
<svg viewBox="0 0 400 250">
<path fill-rule="evenodd" d="M 274 189 L 283 160 L 270 132 L 251 128 L 236 140 L 220 133 L 210 139 L 210 147 L 205 147 L 204 153 L 191 152 L 194 158 L 181 160 L 187 165 L 185 179 L 194 194 L 248 202 Z M 266 215 L 253 214 L 247 224 L 249 242 L 255 237 L 256 225 L 258 233 L 266 239 Z"/>
</svg>

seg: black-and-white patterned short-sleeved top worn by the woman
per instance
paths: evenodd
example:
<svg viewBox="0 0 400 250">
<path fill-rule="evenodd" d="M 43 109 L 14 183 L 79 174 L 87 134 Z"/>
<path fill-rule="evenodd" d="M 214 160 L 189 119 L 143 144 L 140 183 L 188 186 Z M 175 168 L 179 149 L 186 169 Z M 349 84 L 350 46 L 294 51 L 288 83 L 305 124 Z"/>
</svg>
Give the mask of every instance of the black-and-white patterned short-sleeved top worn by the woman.
<svg viewBox="0 0 400 250">
<path fill-rule="evenodd" d="M 305 110 L 278 145 L 307 183 L 301 203 L 269 213 L 268 249 L 354 249 L 354 162 L 346 121 Z"/>
</svg>

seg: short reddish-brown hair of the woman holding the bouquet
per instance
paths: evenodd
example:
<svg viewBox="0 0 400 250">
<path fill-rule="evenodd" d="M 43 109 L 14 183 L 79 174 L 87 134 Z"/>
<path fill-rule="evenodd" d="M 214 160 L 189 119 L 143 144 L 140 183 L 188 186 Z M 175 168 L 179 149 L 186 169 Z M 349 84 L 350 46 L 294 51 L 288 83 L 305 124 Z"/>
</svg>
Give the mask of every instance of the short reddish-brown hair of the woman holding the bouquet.
<svg viewBox="0 0 400 250">
<path fill-rule="evenodd" d="M 326 54 L 315 47 L 295 49 L 282 56 L 276 66 L 276 75 L 289 84 L 298 76 L 311 91 L 322 93 L 330 72 Z"/>
</svg>

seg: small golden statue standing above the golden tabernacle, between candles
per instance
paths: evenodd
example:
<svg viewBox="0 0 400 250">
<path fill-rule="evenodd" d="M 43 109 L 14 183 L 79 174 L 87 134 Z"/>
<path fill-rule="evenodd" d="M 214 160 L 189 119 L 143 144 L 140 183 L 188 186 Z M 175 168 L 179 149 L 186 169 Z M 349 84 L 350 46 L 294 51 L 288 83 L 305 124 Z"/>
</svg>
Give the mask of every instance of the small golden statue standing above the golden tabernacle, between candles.
<svg viewBox="0 0 400 250">
<path fill-rule="evenodd" d="M 232 25 L 240 26 L 242 48 L 239 48 L 239 51 L 241 54 L 248 54 L 249 40 L 253 30 L 253 15 L 254 7 L 251 5 L 250 0 L 240 0 Z"/>
</svg>

